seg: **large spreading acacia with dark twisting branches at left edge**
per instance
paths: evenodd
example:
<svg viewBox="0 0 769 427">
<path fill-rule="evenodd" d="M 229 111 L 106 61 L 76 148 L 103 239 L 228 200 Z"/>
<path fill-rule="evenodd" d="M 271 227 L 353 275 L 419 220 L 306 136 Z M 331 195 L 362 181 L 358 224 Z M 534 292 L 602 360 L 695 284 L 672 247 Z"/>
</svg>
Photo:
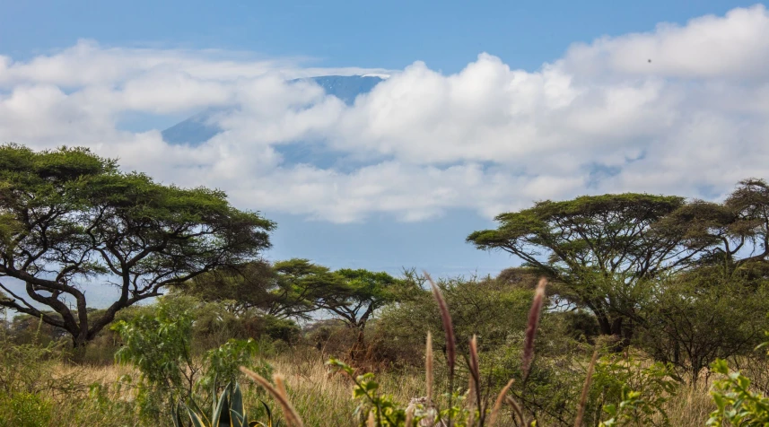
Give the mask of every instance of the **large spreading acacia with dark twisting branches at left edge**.
<svg viewBox="0 0 769 427">
<path fill-rule="evenodd" d="M 118 310 L 257 257 L 274 227 L 222 191 L 164 186 L 85 148 L 0 146 L 0 306 L 65 329 L 77 347 Z M 97 283 L 118 297 L 89 318 L 86 291 Z"/>
</svg>

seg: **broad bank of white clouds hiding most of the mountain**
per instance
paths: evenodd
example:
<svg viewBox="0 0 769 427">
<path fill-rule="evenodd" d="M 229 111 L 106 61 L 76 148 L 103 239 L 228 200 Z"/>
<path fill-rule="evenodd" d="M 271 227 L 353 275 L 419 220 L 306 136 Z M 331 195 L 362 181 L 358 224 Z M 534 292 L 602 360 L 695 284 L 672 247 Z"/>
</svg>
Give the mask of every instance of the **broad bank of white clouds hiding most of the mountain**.
<svg viewBox="0 0 769 427">
<path fill-rule="evenodd" d="M 651 59 L 651 62 L 649 61 Z M 769 178 L 769 13 L 764 6 L 573 45 L 536 71 L 481 54 L 457 74 L 322 69 L 245 53 L 102 48 L 0 57 L 0 140 L 92 146 L 165 182 L 228 191 L 235 204 L 333 221 L 449 209 L 486 216 L 533 200 L 646 191 L 717 198 Z M 311 83 L 392 76 L 353 105 Z M 228 106 L 197 146 L 121 115 Z M 364 159 L 354 170 L 289 164 L 283 144 Z"/>
</svg>

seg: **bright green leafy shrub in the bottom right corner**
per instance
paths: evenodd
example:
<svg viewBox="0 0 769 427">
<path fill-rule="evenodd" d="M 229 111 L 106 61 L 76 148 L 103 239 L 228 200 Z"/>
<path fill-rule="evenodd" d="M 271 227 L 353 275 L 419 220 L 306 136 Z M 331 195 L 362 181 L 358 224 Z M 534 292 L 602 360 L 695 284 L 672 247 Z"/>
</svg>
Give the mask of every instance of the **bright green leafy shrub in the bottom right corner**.
<svg viewBox="0 0 769 427">
<path fill-rule="evenodd" d="M 724 360 L 712 363 L 713 372 L 725 375 L 713 384 L 711 395 L 717 409 L 707 425 L 765 426 L 769 425 L 769 397 L 751 390 L 750 379 L 738 371 L 730 372 Z"/>
</svg>

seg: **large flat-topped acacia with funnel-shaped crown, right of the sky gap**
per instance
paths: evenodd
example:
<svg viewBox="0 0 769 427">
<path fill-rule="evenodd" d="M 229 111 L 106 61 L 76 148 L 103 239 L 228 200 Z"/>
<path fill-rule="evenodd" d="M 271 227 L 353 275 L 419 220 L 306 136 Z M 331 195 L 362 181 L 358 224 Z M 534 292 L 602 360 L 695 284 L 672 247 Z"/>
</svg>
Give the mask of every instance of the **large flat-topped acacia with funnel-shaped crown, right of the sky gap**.
<svg viewBox="0 0 769 427">
<path fill-rule="evenodd" d="M 684 205 L 682 197 L 631 193 L 538 202 L 498 215 L 496 230 L 476 231 L 468 242 L 506 251 L 555 279 L 595 314 L 603 334 L 626 344 L 647 281 L 690 265 L 712 245 L 687 245 L 683 231 L 654 227 Z"/>
</svg>

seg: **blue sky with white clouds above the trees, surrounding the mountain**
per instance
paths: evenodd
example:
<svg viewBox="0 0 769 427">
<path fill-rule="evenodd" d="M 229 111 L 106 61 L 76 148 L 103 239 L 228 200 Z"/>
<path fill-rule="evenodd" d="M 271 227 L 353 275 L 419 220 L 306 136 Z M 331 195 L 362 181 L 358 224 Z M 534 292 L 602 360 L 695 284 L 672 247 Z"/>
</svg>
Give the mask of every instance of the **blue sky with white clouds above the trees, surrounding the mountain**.
<svg viewBox="0 0 769 427">
<path fill-rule="evenodd" d="M 278 222 L 271 259 L 495 274 L 518 261 L 464 238 L 496 213 L 769 177 L 767 70 L 756 2 L 4 2 L 0 141 L 223 188 Z M 391 77 L 353 105 L 285 83 L 326 74 Z M 296 141 L 361 166 L 289 164 Z"/>
</svg>

